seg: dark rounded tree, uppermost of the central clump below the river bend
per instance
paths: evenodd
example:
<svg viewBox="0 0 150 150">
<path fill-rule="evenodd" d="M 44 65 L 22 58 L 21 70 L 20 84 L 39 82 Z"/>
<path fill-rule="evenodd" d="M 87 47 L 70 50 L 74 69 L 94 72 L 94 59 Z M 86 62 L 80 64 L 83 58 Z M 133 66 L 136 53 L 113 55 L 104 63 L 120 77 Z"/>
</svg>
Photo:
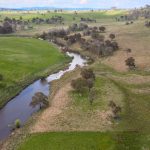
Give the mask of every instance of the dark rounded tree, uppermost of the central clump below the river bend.
<svg viewBox="0 0 150 150">
<path fill-rule="evenodd" d="M 86 80 L 90 78 L 95 80 L 95 74 L 92 69 L 82 69 L 81 76 Z"/>
</svg>

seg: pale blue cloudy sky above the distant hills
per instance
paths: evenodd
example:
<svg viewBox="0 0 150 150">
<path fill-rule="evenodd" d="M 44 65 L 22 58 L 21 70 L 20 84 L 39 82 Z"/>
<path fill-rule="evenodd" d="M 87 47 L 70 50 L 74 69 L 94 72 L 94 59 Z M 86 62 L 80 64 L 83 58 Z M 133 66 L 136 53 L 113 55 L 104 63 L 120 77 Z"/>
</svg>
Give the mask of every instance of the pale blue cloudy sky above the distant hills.
<svg viewBox="0 0 150 150">
<path fill-rule="evenodd" d="M 0 0 L 0 8 L 60 7 L 60 8 L 135 8 L 150 4 L 150 0 Z"/>
</svg>

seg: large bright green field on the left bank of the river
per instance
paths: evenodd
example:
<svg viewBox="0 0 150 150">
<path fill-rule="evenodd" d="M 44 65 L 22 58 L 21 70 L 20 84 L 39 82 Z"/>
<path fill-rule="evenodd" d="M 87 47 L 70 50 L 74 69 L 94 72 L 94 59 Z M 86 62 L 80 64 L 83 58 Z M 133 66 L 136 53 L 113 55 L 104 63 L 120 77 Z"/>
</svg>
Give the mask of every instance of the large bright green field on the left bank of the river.
<svg viewBox="0 0 150 150">
<path fill-rule="evenodd" d="M 69 61 L 48 42 L 36 39 L 0 38 L 0 106 L 25 85 L 48 72 L 56 71 Z"/>
</svg>

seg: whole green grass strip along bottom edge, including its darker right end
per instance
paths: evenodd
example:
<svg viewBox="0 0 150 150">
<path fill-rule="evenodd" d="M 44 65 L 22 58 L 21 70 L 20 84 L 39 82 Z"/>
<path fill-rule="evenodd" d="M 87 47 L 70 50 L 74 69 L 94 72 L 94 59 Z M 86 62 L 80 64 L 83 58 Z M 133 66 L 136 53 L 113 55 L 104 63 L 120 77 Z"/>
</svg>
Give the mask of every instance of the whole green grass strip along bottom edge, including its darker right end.
<svg viewBox="0 0 150 150">
<path fill-rule="evenodd" d="M 148 137 L 136 132 L 50 132 L 30 135 L 17 150 L 148 150 Z"/>
</svg>

